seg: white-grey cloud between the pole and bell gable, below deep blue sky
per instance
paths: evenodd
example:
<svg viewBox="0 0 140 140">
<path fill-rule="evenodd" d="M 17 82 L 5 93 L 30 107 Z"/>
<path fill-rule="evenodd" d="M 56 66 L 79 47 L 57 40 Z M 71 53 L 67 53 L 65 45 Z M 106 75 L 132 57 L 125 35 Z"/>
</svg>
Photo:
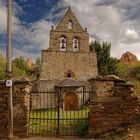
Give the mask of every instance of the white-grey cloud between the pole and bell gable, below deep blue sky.
<svg viewBox="0 0 140 140">
<path fill-rule="evenodd" d="M 33 59 L 41 57 L 41 50 L 49 46 L 49 31 L 50 23 L 45 20 L 34 22 L 29 27 L 17 25 L 13 36 L 21 46 L 15 46 L 13 55 Z"/>
</svg>

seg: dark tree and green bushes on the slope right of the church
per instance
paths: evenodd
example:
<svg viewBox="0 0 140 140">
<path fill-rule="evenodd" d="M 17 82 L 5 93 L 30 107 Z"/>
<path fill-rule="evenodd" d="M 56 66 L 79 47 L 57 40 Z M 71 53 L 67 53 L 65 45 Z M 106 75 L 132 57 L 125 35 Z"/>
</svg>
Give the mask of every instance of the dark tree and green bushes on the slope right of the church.
<svg viewBox="0 0 140 140">
<path fill-rule="evenodd" d="M 123 64 L 110 56 L 111 44 L 107 42 L 91 42 L 90 51 L 97 53 L 98 74 L 101 76 L 117 75 L 121 79 L 133 82 L 136 93 L 140 95 L 140 61 L 133 65 Z"/>
</svg>

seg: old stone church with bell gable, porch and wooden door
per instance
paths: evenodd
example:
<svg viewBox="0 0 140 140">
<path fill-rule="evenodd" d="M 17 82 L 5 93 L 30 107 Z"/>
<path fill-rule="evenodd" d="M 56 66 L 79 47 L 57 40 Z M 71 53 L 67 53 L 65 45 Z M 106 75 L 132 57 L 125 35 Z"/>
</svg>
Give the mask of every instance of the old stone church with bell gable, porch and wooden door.
<svg viewBox="0 0 140 140">
<path fill-rule="evenodd" d="M 42 50 L 41 73 L 37 83 L 39 92 L 52 92 L 47 95 L 47 102 L 39 103 L 42 108 L 55 107 L 54 91 L 61 89 L 61 108 L 76 110 L 89 100 L 88 79 L 98 75 L 96 53 L 89 50 L 89 34 L 83 29 L 71 7 L 56 28 L 50 31 L 47 50 Z M 38 99 L 39 98 L 39 99 Z M 37 97 L 39 100 L 42 97 Z M 82 102 L 80 101 L 82 100 Z M 35 107 L 37 108 L 37 107 Z"/>
</svg>

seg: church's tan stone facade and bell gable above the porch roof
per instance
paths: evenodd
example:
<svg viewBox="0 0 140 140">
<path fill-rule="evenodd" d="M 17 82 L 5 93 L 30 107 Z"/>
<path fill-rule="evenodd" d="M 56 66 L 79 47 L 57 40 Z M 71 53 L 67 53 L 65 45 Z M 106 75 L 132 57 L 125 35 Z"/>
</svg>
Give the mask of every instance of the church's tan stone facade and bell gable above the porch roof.
<svg viewBox="0 0 140 140">
<path fill-rule="evenodd" d="M 97 76 L 97 57 L 89 51 L 89 34 L 69 7 L 50 31 L 47 50 L 42 50 L 40 80 L 52 86 L 64 79 L 86 81 Z M 49 84 L 50 85 L 50 84 Z"/>
</svg>

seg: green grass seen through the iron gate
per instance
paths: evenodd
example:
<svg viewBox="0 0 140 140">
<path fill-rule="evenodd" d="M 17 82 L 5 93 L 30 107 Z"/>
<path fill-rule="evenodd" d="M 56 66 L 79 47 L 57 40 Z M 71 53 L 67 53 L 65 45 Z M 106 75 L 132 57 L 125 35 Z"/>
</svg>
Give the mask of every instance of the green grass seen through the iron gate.
<svg viewBox="0 0 140 140">
<path fill-rule="evenodd" d="M 29 130 L 32 135 L 85 135 L 87 133 L 88 107 L 78 111 L 41 109 L 30 112 Z M 59 125 L 58 125 L 59 123 Z"/>
</svg>

